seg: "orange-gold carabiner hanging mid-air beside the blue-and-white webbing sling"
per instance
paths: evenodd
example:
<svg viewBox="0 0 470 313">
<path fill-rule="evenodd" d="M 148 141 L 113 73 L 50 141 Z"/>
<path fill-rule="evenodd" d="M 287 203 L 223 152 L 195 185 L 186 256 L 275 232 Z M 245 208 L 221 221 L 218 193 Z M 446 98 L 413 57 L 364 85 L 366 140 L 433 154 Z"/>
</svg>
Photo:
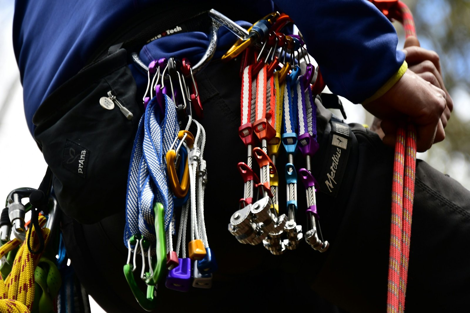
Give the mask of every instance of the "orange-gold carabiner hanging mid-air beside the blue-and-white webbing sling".
<svg viewBox="0 0 470 313">
<path fill-rule="evenodd" d="M 173 149 L 173 146 L 176 143 L 176 140 L 180 139 L 180 144 L 178 147 Z M 168 173 L 168 179 L 170 181 L 170 188 L 172 189 L 174 195 L 178 198 L 184 198 L 188 194 L 189 191 L 189 168 L 188 168 L 188 160 L 186 160 L 183 171 L 183 177 L 181 178 L 181 182 L 178 179 L 178 175 L 176 173 L 175 168 L 175 160 L 178 151 L 180 150 L 183 141 L 187 143 L 190 149 L 193 148 L 194 145 L 194 136 L 188 130 L 180 130 L 178 133 L 178 137 L 175 138 L 173 141 L 170 150 L 166 153 L 166 171 Z"/>
</svg>

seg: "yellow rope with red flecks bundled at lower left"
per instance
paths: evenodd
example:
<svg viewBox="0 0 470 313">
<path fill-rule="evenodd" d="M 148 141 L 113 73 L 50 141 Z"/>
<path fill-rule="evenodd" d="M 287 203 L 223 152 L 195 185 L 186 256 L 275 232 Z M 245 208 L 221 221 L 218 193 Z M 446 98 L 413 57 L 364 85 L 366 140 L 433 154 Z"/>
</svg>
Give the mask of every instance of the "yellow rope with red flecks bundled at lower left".
<svg viewBox="0 0 470 313">
<path fill-rule="evenodd" d="M 44 245 L 49 241 L 50 229 L 42 228 L 46 223 L 44 216 L 39 216 L 39 225 L 41 226 Z M 33 249 L 39 246 L 36 238 L 36 229 L 31 223 L 31 228 L 26 231 L 26 240 L 28 232 L 31 231 L 30 245 Z M 21 242 L 18 239 L 10 240 L 0 247 L 0 258 L 9 251 L 15 249 Z M 31 312 L 32 301 L 34 299 L 34 269 L 39 263 L 42 252 L 32 254 L 28 250 L 26 243 L 22 244 L 16 253 L 15 261 L 10 274 L 5 281 L 0 275 L 0 312 L 6 313 L 29 313 Z"/>
</svg>

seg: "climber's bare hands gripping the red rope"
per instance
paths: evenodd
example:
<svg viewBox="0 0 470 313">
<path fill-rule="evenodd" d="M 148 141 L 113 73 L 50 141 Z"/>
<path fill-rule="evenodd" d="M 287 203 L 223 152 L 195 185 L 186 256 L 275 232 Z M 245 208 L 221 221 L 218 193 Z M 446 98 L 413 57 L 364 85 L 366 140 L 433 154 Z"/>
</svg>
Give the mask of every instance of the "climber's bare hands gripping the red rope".
<svg viewBox="0 0 470 313">
<path fill-rule="evenodd" d="M 411 48 L 416 43 L 415 38 L 408 38 L 405 43 L 410 70 L 382 97 L 364 107 L 384 119 L 382 122 L 375 120 L 371 129 L 379 134 L 383 132 L 381 137 L 387 145 L 395 144 L 398 121 L 406 121 L 408 117 L 416 126 L 417 151 L 423 152 L 433 143 L 444 140 L 444 125 L 450 117 L 453 102 L 452 99 L 446 101 L 448 94 L 441 89 L 444 84 L 437 53 L 419 47 Z"/>
</svg>

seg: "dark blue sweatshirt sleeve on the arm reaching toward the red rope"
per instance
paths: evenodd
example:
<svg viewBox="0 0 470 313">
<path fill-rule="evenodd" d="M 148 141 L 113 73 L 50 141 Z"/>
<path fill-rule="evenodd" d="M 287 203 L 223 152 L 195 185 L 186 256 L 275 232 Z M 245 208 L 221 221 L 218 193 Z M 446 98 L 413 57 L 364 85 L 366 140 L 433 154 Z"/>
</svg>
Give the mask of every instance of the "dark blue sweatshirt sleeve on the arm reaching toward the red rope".
<svg viewBox="0 0 470 313">
<path fill-rule="evenodd" d="M 367 0 L 274 0 L 290 15 L 329 89 L 354 103 L 371 97 L 402 66 L 397 33 Z"/>
</svg>

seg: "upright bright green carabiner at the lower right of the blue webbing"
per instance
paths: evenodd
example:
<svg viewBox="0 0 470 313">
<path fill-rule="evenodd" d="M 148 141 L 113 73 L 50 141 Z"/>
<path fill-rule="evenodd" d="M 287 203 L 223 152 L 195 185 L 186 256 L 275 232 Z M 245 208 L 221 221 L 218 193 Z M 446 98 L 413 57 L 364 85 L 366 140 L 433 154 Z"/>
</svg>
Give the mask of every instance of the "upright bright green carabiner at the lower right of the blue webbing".
<svg viewBox="0 0 470 313">
<path fill-rule="evenodd" d="M 153 207 L 155 212 L 155 234 L 157 235 L 157 260 L 153 268 L 153 275 L 145 273 L 145 282 L 148 285 L 157 285 L 162 279 L 166 269 L 166 238 L 164 225 L 164 207 L 160 202 L 155 203 Z"/>
</svg>

